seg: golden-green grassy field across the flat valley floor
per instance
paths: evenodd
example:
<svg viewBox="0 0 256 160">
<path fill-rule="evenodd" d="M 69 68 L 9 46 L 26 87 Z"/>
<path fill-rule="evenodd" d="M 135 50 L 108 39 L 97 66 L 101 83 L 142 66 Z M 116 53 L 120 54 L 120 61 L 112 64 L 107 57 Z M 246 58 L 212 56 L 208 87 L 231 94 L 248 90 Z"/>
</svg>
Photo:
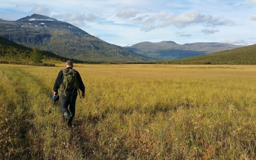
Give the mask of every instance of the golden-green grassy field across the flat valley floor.
<svg viewBox="0 0 256 160">
<path fill-rule="evenodd" d="M 57 66 L 0 64 L 0 159 L 256 159 L 256 66 L 75 65 L 73 128 Z"/>
</svg>

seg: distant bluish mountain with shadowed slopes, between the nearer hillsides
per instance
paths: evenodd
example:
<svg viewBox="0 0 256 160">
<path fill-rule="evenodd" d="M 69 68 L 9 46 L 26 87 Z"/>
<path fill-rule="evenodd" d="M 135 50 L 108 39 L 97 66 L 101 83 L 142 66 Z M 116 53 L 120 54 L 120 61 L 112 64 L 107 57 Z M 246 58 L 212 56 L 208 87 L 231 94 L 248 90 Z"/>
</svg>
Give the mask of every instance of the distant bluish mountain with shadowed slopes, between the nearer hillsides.
<svg viewBox="0 0 256 160">
<path fill-rule="evenodd" d="M 156 58 L 157 60 L 172 60 L 190 56 L 198 56 L 209 54 L 221 50 L 230 50 L 242 46 L 236 46 L 228 43 L 192 43 L 192 44 L 177 44 L 173 41 L 162 42 L 140 42 L 126 49 L 142 54 L 144 56 Z"/>
</svg>

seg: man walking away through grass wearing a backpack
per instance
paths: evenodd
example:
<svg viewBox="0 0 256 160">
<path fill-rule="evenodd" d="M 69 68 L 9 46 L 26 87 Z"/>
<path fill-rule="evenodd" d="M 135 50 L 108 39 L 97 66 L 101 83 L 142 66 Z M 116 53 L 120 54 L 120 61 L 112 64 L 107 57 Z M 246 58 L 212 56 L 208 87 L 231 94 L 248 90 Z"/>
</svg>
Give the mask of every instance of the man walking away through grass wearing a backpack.
<svg viewBox="0 0 256 160">
<path fill-rule="evenodd" d="M 84 98 L 85 87 L 79 72 L 73 69 L 73 62 L 68 60 L 65 66 L 65 69 L 60 70 L 56 78 L 53 90 L 54 95 L 57 96 L 58 89 L 61 89 L 60 104 L 62 114 L 68 120 L 68 126 L 72 127 L 72 119 L 75 116 L 76 110 L 76 97 L 78 95 L 77 92 L 79 92 L 80 89 L 82 91 L 82 98 Z"/>
</svg>

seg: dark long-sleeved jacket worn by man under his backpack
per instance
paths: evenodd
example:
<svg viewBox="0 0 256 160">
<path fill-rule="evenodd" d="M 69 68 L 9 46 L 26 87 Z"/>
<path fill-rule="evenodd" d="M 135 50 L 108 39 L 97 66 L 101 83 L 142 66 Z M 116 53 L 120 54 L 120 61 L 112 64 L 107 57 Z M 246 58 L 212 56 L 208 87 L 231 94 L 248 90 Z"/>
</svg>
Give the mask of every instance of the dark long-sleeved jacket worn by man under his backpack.
<svg viewBox="0 0 256 160">
<path fill-rule="evenodd" d="M 72 69 L 72 67 L 68 67 L 68 69 Z M 84 83 L 83 83 L 82 78 L 81 78 L 80 74 L 78 73 L 78 71 L 76 71 L 76 73 L 77 73 L 76 80 L 78 82 L 78 87 L 82 91 L 82 93 L 84 93 L 85 92 Z M 58 92 L 58 89 L 60 88 L 60 84 L 62 84 L 62 76 L 63 76 L 63 71 L 60 70 L 60 72 L 56 78 L 54 87 L 53 87 L 54 92 Z"/>
</svg>

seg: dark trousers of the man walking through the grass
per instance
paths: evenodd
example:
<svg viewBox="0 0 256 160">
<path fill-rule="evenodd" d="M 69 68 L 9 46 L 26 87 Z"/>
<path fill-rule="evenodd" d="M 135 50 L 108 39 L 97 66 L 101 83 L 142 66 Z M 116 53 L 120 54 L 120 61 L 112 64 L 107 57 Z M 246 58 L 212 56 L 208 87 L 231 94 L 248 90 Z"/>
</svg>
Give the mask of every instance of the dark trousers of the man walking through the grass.
<svg viewBox="0 0 256 160">
<path fill-rule="evenodd" d="M 74 90 L 74 92 L 66 90 L 66 96 L 64 95 L 64 91 L 62 91 L 60 97 L 61 97 L 60 105 L 61 105 L 62 114 L 64 114 L 65 112 L 68 112 L 68 115 L 74 117 L 76 113 L 77 90 Z M 69 110 L 68 110 L 68 105 L 69 105 Z"/>
</svg>

